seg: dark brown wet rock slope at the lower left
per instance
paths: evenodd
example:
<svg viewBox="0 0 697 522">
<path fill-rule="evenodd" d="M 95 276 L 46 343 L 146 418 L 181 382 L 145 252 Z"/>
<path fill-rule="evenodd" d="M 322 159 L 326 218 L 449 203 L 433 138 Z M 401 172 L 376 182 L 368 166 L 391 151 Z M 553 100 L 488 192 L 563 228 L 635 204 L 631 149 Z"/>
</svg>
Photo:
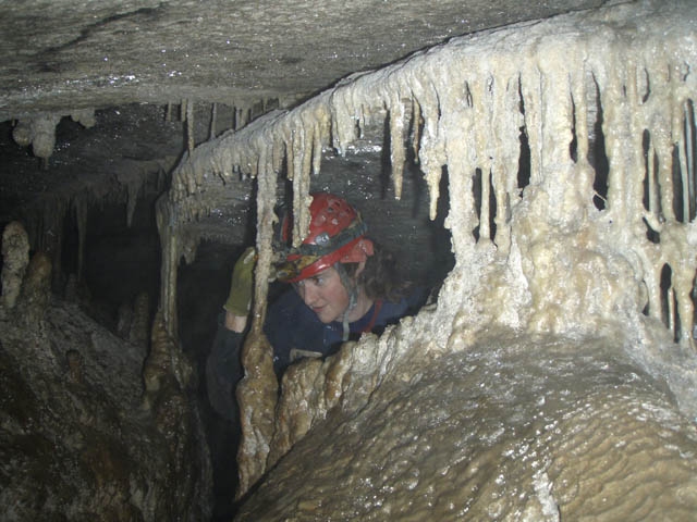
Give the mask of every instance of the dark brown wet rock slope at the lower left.
<svg viewBox="0 0 697 522">
<path fill-rule="evenodd" d="M 163 385 L 146 409 L 144 347 L 59 299 L 34 319 L 0 309 L 0 518 L 206 520 L 191 390 Z"/>
</svg>

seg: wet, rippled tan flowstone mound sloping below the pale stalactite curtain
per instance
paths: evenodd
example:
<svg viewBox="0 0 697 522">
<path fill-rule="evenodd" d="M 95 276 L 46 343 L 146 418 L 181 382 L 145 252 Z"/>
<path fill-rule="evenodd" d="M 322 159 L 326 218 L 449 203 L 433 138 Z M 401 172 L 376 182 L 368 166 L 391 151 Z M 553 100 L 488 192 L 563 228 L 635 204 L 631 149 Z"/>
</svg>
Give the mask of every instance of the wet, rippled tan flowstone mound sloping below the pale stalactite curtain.
<svg viewBox="0 0 697 522">
<path fill-rule="evenodd" d="M 697 428 L 619 344 L 489 335 L 402 359 L 237 520 L 692 520 Z"/>
</svg>

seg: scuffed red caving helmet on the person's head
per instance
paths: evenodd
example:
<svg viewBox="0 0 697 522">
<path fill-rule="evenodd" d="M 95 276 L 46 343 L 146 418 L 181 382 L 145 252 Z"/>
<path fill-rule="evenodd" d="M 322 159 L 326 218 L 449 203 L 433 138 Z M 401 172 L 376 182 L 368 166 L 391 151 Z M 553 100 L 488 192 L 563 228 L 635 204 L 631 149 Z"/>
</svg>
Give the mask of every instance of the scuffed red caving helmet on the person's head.
<svg viewBox="0 0 697 522">
<path fill-rule="evenodd" d="M 372 241 L 365 237 L 367 226 L 346 200 L 332 194 L 314 194 L 309 215 L 309 231 L 302 245 L 281 252 L 284 259 L 277 265 L 280 281 L 295 283 L 334 263 L 359 263 L 372 256 Z M 288 239 L 288 220 L 282 220 L 281 229 Z"/>
</svg>

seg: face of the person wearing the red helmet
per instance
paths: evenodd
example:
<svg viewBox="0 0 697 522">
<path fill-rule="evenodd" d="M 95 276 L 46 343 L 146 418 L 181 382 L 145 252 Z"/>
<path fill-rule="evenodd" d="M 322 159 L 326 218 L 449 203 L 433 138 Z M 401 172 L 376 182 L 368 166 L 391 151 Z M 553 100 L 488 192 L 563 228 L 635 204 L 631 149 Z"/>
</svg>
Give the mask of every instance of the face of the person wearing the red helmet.
<svg viewBox="0 0 697 522">
<path fill-rule="evenodd" d="M 305 304 L 327 324 L 340 321 L 348 308 L 348 291 L 341 283 L 339 272 L 331 266 L 293 285 Z"/>
</svg>

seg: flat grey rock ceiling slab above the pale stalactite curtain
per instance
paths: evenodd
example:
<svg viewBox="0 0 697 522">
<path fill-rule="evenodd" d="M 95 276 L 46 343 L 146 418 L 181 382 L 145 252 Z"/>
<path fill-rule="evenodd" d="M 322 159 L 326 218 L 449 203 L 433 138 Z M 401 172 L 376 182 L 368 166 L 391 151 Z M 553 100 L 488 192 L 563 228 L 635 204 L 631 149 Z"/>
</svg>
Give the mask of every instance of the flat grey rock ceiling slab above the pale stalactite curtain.
<svg viewBox="0 0 697 522">
<path fill-rule="evenodd" d="M 4 1 L 0 120 L 180 98 L 293 102 L 453 36 L 602 3 Z"/>
</svg>

